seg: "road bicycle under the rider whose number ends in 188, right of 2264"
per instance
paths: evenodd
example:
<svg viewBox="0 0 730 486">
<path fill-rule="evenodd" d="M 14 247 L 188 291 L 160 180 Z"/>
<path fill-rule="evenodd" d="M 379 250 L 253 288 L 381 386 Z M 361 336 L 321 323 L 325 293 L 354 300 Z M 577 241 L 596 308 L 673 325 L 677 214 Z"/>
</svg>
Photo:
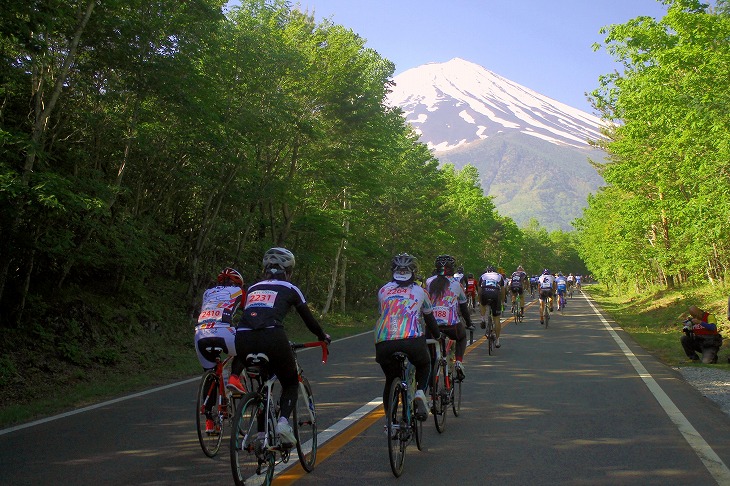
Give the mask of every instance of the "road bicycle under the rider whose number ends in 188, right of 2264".
<svg viewBox="0 0 730 486">
<path fill-rule="evenodd" d="M 431 413 L 436 430 L 446 429 L 446 412 L 451 405 L 454 417 L 461 412 L 461 383 L 456 373 L 456 343 L 444 336 L 441 339 L 427 339 L 434 346 L 433 380 L 431 382 Z"/>
</svg>

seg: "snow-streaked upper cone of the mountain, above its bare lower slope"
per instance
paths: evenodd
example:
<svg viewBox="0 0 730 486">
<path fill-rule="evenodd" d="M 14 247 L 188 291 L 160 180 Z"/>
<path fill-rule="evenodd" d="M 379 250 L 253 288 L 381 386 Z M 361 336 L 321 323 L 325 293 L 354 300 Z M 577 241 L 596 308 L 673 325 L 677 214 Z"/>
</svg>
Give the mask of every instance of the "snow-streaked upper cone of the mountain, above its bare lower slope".
<svg viewBox="0 0 730 486">
<path fill-rule="evenodd" d="M 463 59 L 409 69 L 394 82 L 390 104 L 437 152 L 511 131 L 580 149 L 601 136 L 598 117 Z"/>
</svg>

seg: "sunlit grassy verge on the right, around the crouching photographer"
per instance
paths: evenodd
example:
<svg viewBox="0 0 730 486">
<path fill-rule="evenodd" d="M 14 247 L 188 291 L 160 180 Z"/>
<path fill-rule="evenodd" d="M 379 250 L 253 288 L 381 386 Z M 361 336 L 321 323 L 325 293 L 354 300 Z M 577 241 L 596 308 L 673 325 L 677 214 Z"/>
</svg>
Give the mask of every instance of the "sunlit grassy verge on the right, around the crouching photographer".
<svg viewBox="0 0 730 486">
<path fill-rule="evenodd" d="M 600 284 L 588 285 L 585 291 L 624 331 L 648 352 L 669 366 L 713 366 L 730 370 L 730 325 L 727 321 L 726 286 L 703 285 L 661 289 L 644 294 L 612 295 Z M 715 314 L 724 339 L 718 364 L 690 362 L 682 351 L 682 321 L 687 308 L 696 305 Z"/>
</svg>

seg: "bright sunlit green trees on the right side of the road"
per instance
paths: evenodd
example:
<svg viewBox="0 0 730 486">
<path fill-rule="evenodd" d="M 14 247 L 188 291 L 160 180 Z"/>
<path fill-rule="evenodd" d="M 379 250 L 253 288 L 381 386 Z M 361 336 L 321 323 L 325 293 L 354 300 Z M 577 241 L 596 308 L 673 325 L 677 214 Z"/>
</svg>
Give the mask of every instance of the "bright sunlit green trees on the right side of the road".
<svg viewBox="0 0 730 486">
<path fill-rule="evenodd" d="M 600 79 L 595 107 L 612 123 L 608 187 L 578 223 L 600 278 L 672 286 L 719 281 L 730 265 L 730 17 L 665 0 L 661 20 L 603 30 L 622 73 Z"/>
</svg>

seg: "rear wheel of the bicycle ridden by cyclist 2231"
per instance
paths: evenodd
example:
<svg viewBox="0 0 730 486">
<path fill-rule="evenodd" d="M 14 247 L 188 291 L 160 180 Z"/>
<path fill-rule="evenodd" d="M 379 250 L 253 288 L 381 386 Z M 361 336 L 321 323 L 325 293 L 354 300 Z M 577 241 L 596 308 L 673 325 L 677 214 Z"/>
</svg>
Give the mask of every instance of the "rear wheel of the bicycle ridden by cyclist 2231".
<svg viewBox="0 0 730 486">
<path fill-rule="evenodd" d="M 265 413 L 261 396 L 249 393 L 238 403 L 233 415 L 231 470 L 238 486 L 270 484 L 274 476 L 274 453 L 264 450 L 264 443 L 258 438 L 258 421 Z M 273 438 L 273 424 L 269 422 L 270 438 Z"/>
</svg>

